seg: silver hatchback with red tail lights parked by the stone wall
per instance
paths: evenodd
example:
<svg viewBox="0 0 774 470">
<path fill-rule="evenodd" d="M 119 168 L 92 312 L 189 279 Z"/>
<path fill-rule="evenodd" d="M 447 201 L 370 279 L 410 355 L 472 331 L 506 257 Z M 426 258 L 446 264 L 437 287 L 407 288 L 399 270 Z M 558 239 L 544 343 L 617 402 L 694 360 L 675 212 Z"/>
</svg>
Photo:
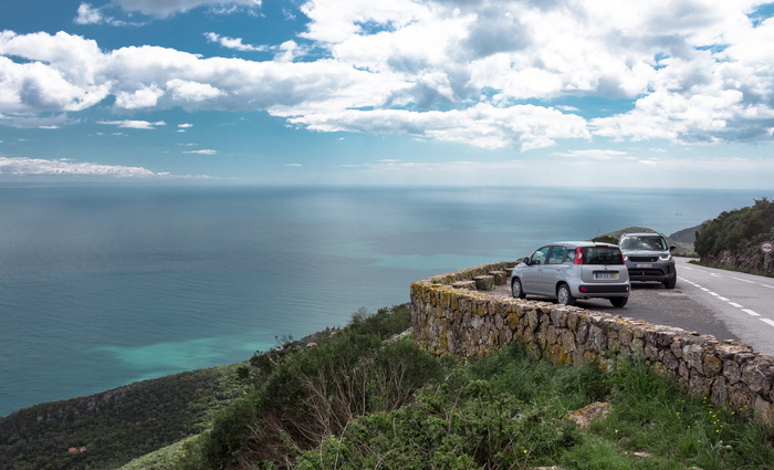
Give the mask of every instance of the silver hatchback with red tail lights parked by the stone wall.
<svg viewBox="0 0 774 470">
<path fill-rule="evenodd" d="M 578 299 L 608 299 L 613 306 L 629 300 L 629 272 L 616 244 L 563 241 L 538 248 L 513 268 L 511 293 L 540 295 L 574 305 Z"/>
</svg>

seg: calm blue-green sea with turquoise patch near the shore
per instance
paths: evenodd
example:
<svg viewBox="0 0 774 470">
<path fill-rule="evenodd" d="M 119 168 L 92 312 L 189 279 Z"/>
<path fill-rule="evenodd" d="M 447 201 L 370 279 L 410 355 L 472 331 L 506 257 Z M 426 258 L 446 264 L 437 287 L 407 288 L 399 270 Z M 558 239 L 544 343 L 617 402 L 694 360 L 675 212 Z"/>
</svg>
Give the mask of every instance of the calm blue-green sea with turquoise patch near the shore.
<svg viewBox="0 0 774 470">
<path fill-rule="evenodd" d="M 0 416 L 248 359 L 412 281 L 764 191 L 0 186 Z"/>
</svg>

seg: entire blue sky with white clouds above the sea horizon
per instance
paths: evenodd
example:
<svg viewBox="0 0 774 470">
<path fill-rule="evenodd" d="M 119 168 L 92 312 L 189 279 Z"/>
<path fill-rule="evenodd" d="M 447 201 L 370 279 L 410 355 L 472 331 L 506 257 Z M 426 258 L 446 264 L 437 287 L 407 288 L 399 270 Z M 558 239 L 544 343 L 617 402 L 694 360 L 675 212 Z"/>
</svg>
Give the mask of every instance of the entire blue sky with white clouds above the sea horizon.
<svg viewBox="0 0 774 470">
<path fill-rule="evenodd" d="M 774 189 L 774 3 L 0 3 L 0 181 Z"/>
</svg>

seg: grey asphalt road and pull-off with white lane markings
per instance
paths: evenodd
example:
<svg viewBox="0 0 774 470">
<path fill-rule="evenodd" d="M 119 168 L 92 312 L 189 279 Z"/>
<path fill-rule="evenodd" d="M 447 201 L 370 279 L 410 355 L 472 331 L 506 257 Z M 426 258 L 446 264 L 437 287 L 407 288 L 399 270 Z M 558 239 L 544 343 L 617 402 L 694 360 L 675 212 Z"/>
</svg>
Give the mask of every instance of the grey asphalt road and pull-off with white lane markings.
<svg viewBox="0 0 774 470">
<path fill-rule="evenodd" d="M 674 289 L 632 283 L 623 309 L 603 299 L 578 301 L 577 306 L 740 341 L 774 356 L 774 279 L 703 268 L 682 258 L 677 262 Z M 510 295 L 509 286 L 498 291 Z"/>
</svg>

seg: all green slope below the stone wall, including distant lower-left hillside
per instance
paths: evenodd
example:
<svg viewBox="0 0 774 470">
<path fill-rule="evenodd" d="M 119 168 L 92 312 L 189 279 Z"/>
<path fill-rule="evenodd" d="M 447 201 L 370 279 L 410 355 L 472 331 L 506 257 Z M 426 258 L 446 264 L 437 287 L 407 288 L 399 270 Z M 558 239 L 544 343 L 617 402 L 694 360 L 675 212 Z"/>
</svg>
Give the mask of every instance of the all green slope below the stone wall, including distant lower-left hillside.
<svg viewBox="0 0 774 470">
<path fill-rule="evenodd" d="M 172 376 L 164 386 L 140 383 L 114 405 L 142 406 L 124 407 L 119 414 L 111 410 L 113 401 L 104 400 L 100 420 L 83 426 L 67 410 L 83 409 L 79 407 L 94 397 L 34 407 L 35 412 L 14 421 L 14 428 L 0 421 L 4 426 L 0 467 L 772 468 L 771 428 L 753 421 L 747 410 L 719 409 L 707 399 L 690 398 L 635 357 L 609 368 L 557 367 L 513 343 L 490 357 L 459 363 L 423 353 L 410 336 L 395 337 L 410 322 L 407 305 L 373 315 L 360 310 L 346 327 L 315 337 L 315 346 L 285 338 L 282 347 L 259 352 L 248 363 Z M 184 405 L 169 395 L 174 388 L 187 389 L 189 383 L 207 389 L 202 395 L 208 398 Z M 234 399 L 237 389 L 242 396 Z M 578 427 L 569 418 L 599 401 L 610 404 L 609 411 L 590 427 Z M 205 422 L 205 415 L 196 412 L 197 419 L 186 418 L 189 407 L 220 409 Z M 165 416 L 169 412 L 176 415 Z M 35 427 L 39 416 L 45 426 Z M 34 442 L 53 443 L 46 450 Z M 88 443 L 86 452 L 67 455 L 67 447 L 82 442 Z M 11 452 L 35 449 L 27 447 L 32 445 L 39 446 L 39 453 Z M 139 457 L 128 456 L 127 449 L 159 450 Z"/>
</svg>

